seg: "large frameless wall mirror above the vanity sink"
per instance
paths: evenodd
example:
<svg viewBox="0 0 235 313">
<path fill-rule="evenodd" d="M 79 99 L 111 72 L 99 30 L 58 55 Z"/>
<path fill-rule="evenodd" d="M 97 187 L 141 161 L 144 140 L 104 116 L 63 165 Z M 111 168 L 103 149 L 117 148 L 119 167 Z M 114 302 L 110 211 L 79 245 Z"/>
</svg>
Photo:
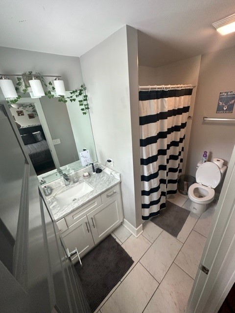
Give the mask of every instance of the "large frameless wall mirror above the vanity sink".
<svg viewBox="0 0 235 313">
<path fill-rule="evenodd" d="M 40 179 L 48 183 L 60 177 L 59 168 L 64 173 L 82 168 L 85 150 L 97 161 L 90 115 L 82 114 L 78 100 L 65 104 L 56 97 L 25 95 L 9 109 Z"/>
</svg>

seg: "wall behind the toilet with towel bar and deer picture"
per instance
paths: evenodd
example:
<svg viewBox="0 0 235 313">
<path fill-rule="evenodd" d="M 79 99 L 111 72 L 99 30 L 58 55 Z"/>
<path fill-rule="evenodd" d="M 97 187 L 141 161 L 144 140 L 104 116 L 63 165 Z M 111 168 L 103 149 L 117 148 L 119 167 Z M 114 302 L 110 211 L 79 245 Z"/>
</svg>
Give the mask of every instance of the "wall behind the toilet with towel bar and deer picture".
<svg viewBox="0 0 235 313">
<path fill-rule="evenodd" d="M 233 113 L 216 113 L 219 93 L 232 90 L 235 90 L 235 46 L 203 55 L 188 150 L 188 174 L 195 175 L 204 150 L 209 152 L 209 160 L 219 157 L 226 165 L 229 162 L 235 145 L 235 123 L 206 122 L 203 116 L 235 118 L 235 108 Z"/>
</svg>

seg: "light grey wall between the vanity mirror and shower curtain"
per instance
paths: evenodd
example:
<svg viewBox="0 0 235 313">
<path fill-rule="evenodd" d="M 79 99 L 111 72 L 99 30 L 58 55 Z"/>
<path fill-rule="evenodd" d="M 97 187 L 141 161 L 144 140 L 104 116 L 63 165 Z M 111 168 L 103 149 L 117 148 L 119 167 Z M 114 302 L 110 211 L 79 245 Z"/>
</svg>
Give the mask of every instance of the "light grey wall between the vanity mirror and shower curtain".
<svg viewBox="0 0 235 313">
<path fill-rule="evenodd" d="M 137 221 L 136 211 L 141 214 L 141 209 L 135 204 L 128 67 L 128 52 L 133 51 L 131 48 L 128 51 L 127 47 L 127 32 L 129 37 L 135 35 L 135 31 L 131 34 L 127 31 L 127 26 L 123 26 L 82 55 L 80 61 L 91 107 L 98 160 L 105 163 L 109 157 L 113 159 L 114 168 L 121 173 L 124 217 L 137 227 L 141 222 L 139 219 Z M 137 53 L 134 58 L 137 67 Z M 138 86 L 136 88 L 138 94 Z"/>
</svg>

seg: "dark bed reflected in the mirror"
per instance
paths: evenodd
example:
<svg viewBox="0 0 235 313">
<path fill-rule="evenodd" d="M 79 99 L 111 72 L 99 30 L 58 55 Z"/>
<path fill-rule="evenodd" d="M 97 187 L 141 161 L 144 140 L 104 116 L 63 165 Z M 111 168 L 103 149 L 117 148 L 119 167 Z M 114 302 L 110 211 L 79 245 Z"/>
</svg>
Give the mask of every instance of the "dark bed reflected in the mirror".
<svg viewBox="0 0 235 313">
<path fill-rule="evenodd" d="M 43 174 L 55 168 L 42 125 L 19 129 L 25 149 L 37 174 Z"/>
</svg>

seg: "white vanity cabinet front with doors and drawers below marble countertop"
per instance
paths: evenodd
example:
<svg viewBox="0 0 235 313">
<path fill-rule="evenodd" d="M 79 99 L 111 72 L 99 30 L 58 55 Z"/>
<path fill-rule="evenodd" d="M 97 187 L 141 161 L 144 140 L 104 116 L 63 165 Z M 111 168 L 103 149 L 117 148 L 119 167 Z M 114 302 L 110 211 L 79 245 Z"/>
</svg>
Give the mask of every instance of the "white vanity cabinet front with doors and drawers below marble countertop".
<svg viewBox="0 0 235 313">
<path fill-rule="evenodd" d="M 123 220 L 120 186 L 115 185 L 57 222 L 65 245 L 80 258 L 111 233 Z M 78 261 L 76 254 L 72 261 Z"/>
</svg>

